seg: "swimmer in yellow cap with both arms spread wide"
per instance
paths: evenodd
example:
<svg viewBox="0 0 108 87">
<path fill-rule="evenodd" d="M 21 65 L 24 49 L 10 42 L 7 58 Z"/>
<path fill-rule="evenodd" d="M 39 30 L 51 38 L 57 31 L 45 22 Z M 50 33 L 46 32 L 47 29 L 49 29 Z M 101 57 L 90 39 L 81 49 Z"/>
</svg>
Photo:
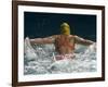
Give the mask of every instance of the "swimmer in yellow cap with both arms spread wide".
<svg viewBox="0 0 108 87">
<path fill-rule="evenodd" d="M 92 40 L 83 39 L 77 35 L 70 35 L 70 26 L 68 23 L 60 25 L 60 34 L 53 35 L 45 38 L 30 39 L 31 44 L 54 44 L 55 51 L 58 53 L 55 59 L 63 60 L 73 58 L 73 50 L 76 44 L 90 46 L 94 44 Z"/>
</svg>

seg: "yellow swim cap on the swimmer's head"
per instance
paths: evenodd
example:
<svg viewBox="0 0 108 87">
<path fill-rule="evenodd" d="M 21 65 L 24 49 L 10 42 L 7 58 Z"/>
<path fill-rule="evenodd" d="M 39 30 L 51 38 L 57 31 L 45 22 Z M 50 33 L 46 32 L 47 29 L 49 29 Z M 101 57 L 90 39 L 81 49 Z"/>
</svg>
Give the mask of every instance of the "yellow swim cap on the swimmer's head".
<svg viewBox="0 0 108 87">
<path fill-rule="evenodd" d="M 63 23 L 60 25 L 60 33 L 63 35 L 70 35 L 70 26 L 68 25 L 68 23 Z"/>
</svg>

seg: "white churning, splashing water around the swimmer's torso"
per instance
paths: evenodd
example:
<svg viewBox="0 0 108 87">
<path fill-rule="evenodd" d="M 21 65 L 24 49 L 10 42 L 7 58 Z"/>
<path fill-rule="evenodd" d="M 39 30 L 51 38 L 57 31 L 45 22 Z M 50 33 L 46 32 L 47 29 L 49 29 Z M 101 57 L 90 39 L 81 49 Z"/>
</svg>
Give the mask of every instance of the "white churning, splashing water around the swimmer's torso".
<svg viewBox="0 0 108 87">
<path fill-rule="evenodd" d="M 58 74 L 96 72 L 96 44 L 91 46 L 76 45 L 75 58 L 55 61 L 54 45 L 30 45 L 25 39 L 24 74 Z"/>
</svg>

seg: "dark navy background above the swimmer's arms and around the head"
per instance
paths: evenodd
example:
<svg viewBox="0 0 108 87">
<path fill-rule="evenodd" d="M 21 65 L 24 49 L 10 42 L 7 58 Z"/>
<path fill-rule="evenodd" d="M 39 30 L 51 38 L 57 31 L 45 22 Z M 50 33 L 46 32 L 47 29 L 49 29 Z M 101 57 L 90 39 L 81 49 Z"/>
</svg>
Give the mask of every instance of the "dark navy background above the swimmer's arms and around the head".
<svg viewBox="0 0 108 87">
<path fill-rule="evenodd" d="M 96 15 L 24 13 L 25 37 L 38 38 L 60 34 L 60 24 L 68 23 L 72 35 L 96 41 Z"/>
</svg>

